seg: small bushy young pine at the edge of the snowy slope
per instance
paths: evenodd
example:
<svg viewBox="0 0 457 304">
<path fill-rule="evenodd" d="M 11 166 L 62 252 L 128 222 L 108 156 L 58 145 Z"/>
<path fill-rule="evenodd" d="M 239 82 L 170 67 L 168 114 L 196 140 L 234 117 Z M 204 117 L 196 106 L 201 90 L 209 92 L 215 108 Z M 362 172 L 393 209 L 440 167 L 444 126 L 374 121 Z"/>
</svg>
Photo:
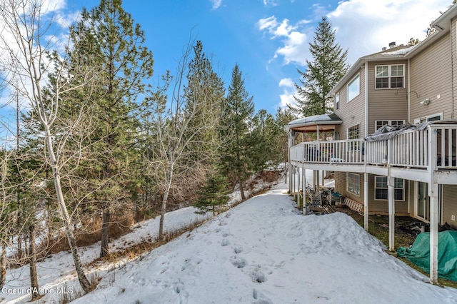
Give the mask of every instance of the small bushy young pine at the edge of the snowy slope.
<svg viewBox="0 0 457 304">
<path fill-rule="evenodd" d="M 216 172 L 208 178 L 206 186 L 199 191 L 199 199 L 194 206 L 200 209 L 199 213 L 211 211 L 213 216 L 216 216 L 220 206 L 229 201 L 227 193 L 229 193 L 229 189 L 226 177 Z"/>
</svg>

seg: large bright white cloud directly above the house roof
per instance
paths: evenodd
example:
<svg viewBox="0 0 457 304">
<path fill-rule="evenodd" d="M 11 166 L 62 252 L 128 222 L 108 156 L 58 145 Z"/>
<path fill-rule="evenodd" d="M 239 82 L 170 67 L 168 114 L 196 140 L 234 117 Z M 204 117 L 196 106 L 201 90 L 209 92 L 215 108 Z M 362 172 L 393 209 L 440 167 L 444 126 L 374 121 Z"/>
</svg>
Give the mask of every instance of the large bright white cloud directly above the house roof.
<svg viewBox="0 0 457 304">
<path fill-rule="evenodd" d="M 395 41 L 423 40 L 426 29 L 451 4 L 449 0 L 341 1 L 327 16 L 336 29 L 336 41 L 348 49 L 348 63 L 381 51 Z"/>
</svg>

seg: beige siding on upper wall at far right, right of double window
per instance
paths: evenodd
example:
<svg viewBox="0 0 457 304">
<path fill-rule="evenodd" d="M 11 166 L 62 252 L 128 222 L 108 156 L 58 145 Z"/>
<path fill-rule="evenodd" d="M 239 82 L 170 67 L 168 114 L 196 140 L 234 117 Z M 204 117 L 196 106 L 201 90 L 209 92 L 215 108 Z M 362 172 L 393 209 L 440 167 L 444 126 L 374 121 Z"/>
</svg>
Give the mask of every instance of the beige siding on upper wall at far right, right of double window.
<svg viewBox="0 0 457 304">
<path fill-rule="evenodd" d="M 410 61 L 411 122 L 436 113 L 443 113 L 443 119 L 453 116 L 449 39 L 449 35 L 443 36 Z M 430 104 L 424 106 L 421 101 L 426 98 L 430 99 Z"/>
</svg>

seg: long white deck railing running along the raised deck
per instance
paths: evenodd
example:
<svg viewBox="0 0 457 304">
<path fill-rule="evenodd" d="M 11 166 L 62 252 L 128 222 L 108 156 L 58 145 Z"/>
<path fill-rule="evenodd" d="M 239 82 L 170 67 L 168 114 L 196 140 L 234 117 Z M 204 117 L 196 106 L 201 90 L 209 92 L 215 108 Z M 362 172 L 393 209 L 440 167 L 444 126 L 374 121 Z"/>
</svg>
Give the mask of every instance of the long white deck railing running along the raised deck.
<svg viewBox="0 0 457 304">
<path fill-rule="evenodd" d="M 314 141 L 291 147 L 291 161 L 457 169 L 457 126 L 436 124 L 381 141 Z"/>
</svg>

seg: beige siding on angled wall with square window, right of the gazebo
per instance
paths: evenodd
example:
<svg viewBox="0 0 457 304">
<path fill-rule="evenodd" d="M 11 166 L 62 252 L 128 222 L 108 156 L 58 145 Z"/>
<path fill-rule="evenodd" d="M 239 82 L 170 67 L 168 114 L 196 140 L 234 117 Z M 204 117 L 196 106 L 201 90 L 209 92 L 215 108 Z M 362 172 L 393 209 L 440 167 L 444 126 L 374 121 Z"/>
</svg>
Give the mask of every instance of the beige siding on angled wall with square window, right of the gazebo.
<svg viewBox="0 0 457 304">
<path fill-rule="evenodd" d="M 348 102 L 348 83 L 350 83 L 354 77 L 360 76 L 360 94 L 356 98 L 353 98 Z M 343 123 L 336 128 L 336 131 L 340 133 L 339 139 L 346 139 L 348 136 L 348 128 L 352 126 L 360 125 L 360 136 L 363 138 L 365 133 L 365 71 L 360 71 L 349 79 L 347 83 L 341 86 L 341 90 L 338 91 L 340 94 L 340 108 L 335 110 L 336 115 L 343 121 Z M 353 118 L 352 118 L 353 115 Z"/>
</svg>

